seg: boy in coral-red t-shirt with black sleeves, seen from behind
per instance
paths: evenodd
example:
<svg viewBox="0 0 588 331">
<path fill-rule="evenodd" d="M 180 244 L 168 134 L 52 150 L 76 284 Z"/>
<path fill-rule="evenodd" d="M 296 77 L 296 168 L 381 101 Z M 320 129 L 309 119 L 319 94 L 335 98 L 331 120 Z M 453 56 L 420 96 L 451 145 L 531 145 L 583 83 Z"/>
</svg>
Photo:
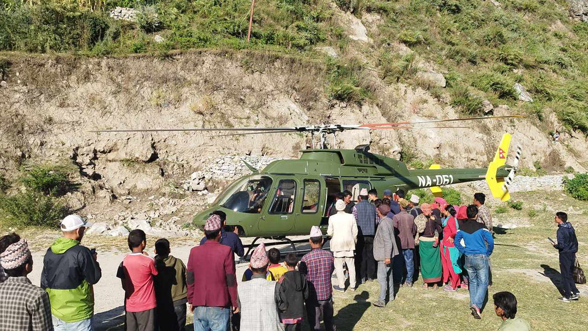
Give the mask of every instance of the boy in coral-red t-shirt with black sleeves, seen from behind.
<svg viewBox="0 0 588 331">
<path fill-rule="evenodd" d="M 125 290 L 126 330 L 153 331 L 157 307 L 153 276 L 158 275 L 155 260 L 145 251 L 143 230 L 132 230 L 128 243 L 132 253 L 125 256 L 116 273 Z"/>
</svg>

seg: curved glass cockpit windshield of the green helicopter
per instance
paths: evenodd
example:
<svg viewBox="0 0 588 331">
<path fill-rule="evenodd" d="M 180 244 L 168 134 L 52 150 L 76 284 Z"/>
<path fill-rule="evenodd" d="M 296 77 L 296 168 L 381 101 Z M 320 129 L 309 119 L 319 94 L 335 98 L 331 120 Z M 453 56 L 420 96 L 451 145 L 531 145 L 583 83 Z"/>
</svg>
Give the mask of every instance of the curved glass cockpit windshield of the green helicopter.
<svg viewBox="0 0 588 331">
<path fill-rule="evenodd" d="M 272 187 L 272 178 L 268 176 L 250 176 L 243 178 L 227 190 L 219 199 L 221 207 L 240 213 L 258 214 Z"/>
</svg>

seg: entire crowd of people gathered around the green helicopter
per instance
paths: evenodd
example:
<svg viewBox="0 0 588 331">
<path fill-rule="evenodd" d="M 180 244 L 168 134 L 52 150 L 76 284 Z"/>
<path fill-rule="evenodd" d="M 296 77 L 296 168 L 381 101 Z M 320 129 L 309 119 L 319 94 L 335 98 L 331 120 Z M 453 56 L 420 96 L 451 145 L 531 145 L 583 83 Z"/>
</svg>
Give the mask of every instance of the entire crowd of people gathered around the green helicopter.
<svg viewBox="0 0 588 331">
<path fill-rule="evenodd" d="M 131 253 L 119 265 L 116 277 L 125 290 L 125 329 L 129 331 L 183 330 L 188 310 L 195 331 L 300 330 L 306 322 L 319 330 L 335 330 L 333 290 L 355 291 L 377 280 L 380 292 L 373 302 L 385 307 L 400 287 L 443 286 L 447 292 L 468 289 L 470 310 L 482 318 L 482 306 L 491 283 L 490 256 L 494 248 L 492 215 L 485 196 L 476 193 L 469 206 L 452 206 L 442 198 L 419 204 L 405 192 L 363 189 L 358 202 L 344 191 L 329 206 L 330 251 L 318 226 L 310 230 L 311 250 L 299 260 L 259 244 L 248 270 L 238 284 L 235 253 L 243 256 L 238 234 L 225 231 L 226 215 L 216 211 L 206 221 L 205 238 L 190 251 L 187 265 L 171 255 L 167 239 L 155 242 L 155 256 L 145 251 L 142 230 L 128 236 Z M 557 243 L 564 296 L 579 299 L 572 269 L 577 239 L 567 215 L 559 212 Z M 0 238 L 0 330 L 93 329 L 93 286 L 102 277 L 95 250 L 81 245 L 86 222 L 77 215 L 61 222 L 63 237 L 46 251 L 41 287 L 27 278 L 33 259 L 25 239 L 12 233 Z M 332 284 L 333 273 L 336 284 Z M 346 279 L 349 286 L 346 287 Z M 516 317 L 517 301 L 510 292 L 493 295 L 501 331 L 530 330 Z"/>
</svg>

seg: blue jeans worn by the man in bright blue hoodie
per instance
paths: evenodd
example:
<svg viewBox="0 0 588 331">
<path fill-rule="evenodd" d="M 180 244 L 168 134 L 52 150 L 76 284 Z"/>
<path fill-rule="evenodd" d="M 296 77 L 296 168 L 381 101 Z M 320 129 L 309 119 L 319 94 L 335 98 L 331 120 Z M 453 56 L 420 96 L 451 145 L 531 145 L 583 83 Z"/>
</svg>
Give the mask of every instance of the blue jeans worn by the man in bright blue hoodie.
<svg viewBox="0 0 588 331">
<path fill-rule="evenodd" d="M 485 254 L 466 255 L 470 306 L 482 308 L 488 290 L 488 257 Z"/>
</svg>

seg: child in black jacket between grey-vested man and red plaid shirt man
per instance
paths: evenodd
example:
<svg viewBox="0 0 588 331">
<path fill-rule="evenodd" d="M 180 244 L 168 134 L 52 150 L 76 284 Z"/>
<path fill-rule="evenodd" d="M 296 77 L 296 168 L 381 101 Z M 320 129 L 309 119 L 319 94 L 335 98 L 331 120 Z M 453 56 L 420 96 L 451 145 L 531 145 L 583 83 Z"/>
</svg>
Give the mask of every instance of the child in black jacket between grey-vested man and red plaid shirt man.
<svg viewBox="0 0 588 331">
<path fill-rule="evenodd" d="M 298 256 L 295 253 L 288 253 L 286 256 L 288 272 L 278 281 L 280 283 L 278 308 L 285 331 L 300 331 L 305 310 L 304 302 L 310 296 L 306 277 L 296 270 L 296 264 L 298 264 Z"/>
</svg>

